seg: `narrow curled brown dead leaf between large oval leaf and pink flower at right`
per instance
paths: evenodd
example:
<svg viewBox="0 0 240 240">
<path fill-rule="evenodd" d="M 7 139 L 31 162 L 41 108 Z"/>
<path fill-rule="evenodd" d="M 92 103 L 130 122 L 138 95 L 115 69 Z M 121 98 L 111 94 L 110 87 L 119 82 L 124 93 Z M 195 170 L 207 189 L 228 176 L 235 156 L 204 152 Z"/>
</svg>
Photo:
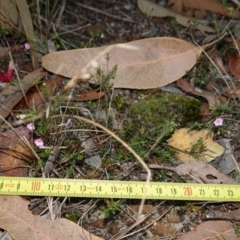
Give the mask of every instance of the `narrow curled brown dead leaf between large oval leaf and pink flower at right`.
<svg viewBox="0 0 240 240">
<path fill-rule="evenodd" d="M 196 88 L 183 78 L 177 80 L 177 86 L 187 93 L 192 93 L 196 96 L 201 96 L 205 98 L 208 101 L 210 106 L 221 105 L 226 103 L 226 99 L 224 97 L 215 96 L 213 93 L 210 93 L 206 90 Z"/>
</svg>

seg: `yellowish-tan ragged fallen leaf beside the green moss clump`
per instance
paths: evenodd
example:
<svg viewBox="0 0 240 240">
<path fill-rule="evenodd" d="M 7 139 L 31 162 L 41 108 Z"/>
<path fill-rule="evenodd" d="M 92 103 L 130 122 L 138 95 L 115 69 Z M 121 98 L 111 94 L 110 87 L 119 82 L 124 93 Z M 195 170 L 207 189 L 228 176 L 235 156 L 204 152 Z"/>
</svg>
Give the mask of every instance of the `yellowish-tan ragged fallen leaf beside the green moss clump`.
<svg viewBox="0 0 240 240">
<path fill-rule="evenodd" d="M 190 131 L 188 128 L 181 128 L 175 131 L 172 137 L 168 140 L 168 145 L 181 150 L 181 152 L 176 153 L 176 157 L 180 162 L 188 163 L 199 161 L 196 157 L 199 156 L 203 161 L 210 162 L 216 157 L 221 156 L 224 153 L 224 147 L 212 140 L 213 134 L 206 129 L 200 131 Z M 202 141 L 201 145 L 196 147 L 196 150 L 192 154 L 190 149 L 199 141 Z M 202 149 L 202 146 L 205 146 L 205 149 Z M 185 152 L 182 152 L 185 151 Z M 202 151 L 202 152 L 201 152 Z"/>
</svg>

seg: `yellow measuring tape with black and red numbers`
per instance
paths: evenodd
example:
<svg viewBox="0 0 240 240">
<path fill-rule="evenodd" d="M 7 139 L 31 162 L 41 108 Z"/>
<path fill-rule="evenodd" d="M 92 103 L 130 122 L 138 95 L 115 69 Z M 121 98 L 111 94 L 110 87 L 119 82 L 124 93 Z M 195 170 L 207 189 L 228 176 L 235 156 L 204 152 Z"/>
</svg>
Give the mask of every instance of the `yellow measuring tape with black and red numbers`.
<svg viewBox="0 0 240 240">
<path fill-rule="evenodd" d="M 240 185 L 0 177 L 0 195 L 240 201 Z"/>
</svg>

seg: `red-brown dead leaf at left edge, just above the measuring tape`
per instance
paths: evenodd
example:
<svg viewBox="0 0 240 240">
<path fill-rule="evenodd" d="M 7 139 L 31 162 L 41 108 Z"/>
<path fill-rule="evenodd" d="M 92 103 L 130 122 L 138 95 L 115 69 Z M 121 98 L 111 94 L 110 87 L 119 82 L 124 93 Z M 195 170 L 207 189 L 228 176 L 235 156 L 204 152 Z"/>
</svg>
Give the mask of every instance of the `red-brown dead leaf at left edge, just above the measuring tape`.
<svg viewBox="0 0 240 240">
<path fill-rule="evenodd" d="M 14 130 L 0 133 L 0 176 L 25 177 L 34 155 L 20 137 L 25 137 L 31 144 L 32 133 L 25 127 Z"/>
</svg>

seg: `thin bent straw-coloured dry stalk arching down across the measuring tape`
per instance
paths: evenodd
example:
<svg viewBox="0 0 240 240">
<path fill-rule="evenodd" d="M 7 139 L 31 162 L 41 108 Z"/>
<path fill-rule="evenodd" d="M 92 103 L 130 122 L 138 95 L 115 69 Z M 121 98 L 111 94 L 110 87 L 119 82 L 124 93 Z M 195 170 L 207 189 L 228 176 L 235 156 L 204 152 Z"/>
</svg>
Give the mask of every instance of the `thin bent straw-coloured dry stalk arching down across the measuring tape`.
<svg viewBox="0 0 240 240">
<path fill-rule="evenodd" d="M 52 118 L 56 118 L 56 117 L 65 117 L 65 118 L 75 118 L 79 121 L 84 121 L 84 122 L 87 122 L 89 124 L 92 124 L 94 125 L 95 127 L 98 127 L 100 129 L 102 129 L 103 131 L 105 131 L 107 134 L 109 134 L 110 136 L 112 136 L 113 138 L 115 138 L 118 142 L 120 142 L 130 153 L 133 154 L 133 156 L 141 163 L 141 165 L 143 166 L 143 168 L 146 170 L 147 172 L 147 180 L 146 180 L 146 185 L 145 185 L 145 192 L 143 194 L 143 198 L 141 200 L 141 205 L 139 207 L 139 211 L 138 211 L 138 219 L 137 221 L 140 221 L 141 218 L 141 214 L 142 214 L 142 210 L 143 210 L 143 205 L 144 205 L 144 202 L 145 202 L 145 199 L 146 199 L 146 193 L 147 193 L 147 187 L 149 185 L 149 182 L 151 180 L 151 171 L 149 169 L 149 167 L 147 166 L 147 164 L 143 161 L 143 159 L 126 143 L 124 142 L 121 138 L 119 138 L 115 133 L 113 133 L 112 131 L 110 131 L 109 129 L 107 129 L 106 127 L 102 126 L 101 124 L 99 123 L 96 123 L 92 120 L 89 120 L 87 118 L 84 118 L 84 117 L 80 117 L 80 116 L 73 116 L 73 115 L 70 115 L 70 114 L 64 114 L 64 115 L 54 115 L 52 116 Z"/>
</svg>

